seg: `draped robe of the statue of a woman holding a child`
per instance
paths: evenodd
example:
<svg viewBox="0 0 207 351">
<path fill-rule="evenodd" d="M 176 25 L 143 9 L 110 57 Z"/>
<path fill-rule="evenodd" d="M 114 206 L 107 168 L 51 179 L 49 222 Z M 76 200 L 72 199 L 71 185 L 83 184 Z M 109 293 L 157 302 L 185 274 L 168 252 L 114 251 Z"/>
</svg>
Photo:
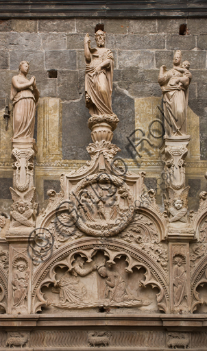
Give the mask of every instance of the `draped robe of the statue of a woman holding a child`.
<svg viewBox="0 0 207 351">
<path fill-rule="evenodd" d="M 186 113 L 188 107 L 188 88 L 178 88 L 175 80 L 182 77 L 176 69 L 161 72 L 158 78 L 163 94 L 163 110 L 165 120 L 165 134 L 186 135 Z M 188 74 L 191 81 L 191 73 Z M 171 127 L 171 125 L 172 127 Z"/>
</svg>

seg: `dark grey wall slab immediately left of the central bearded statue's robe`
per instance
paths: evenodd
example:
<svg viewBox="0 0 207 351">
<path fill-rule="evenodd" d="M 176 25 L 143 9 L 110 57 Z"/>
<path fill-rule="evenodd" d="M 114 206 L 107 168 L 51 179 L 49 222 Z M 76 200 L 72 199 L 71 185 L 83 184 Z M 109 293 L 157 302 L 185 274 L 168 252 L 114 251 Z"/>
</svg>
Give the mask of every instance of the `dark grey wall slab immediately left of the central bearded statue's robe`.
<svg viewBox="0 0 207 351">
<path fill-rule="evenodd" d="M 86 151 L 90 138 L 84 95 L 81 100 L 62 104 L 62 158 L 64 160 L 90 160 Z"/>
</svg>

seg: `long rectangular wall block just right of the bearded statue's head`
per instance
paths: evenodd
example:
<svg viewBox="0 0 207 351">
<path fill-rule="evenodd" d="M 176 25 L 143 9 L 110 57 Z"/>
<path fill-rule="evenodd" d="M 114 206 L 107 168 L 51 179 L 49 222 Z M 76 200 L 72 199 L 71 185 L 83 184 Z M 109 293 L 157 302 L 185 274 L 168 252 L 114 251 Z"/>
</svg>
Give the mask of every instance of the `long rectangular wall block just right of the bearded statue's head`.
<svg viewBox="0 0 207 351">
<path fill-rule="evenodd" d="M 162 34 L 139 35 L 115 35 L 114 47 L 123 50 L 137 49 L 165 49 L 165 36 Z"/>
</svg>

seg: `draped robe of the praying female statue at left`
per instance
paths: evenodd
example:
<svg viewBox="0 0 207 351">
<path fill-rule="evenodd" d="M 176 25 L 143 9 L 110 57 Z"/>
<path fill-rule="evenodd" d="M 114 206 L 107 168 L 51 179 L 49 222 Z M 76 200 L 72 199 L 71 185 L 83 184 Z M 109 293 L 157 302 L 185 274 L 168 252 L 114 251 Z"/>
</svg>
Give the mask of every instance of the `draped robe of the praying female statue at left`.
<svg viewBox="0 0 207 351">
<path fill-rule="evenodd" d="M 16 76 L 19 84 L 29 82 L 26 77 Z M 31 88 L 17 91 L 12 84 L 11 100 L 13 101 L 13 138 L 33 138 L 35 123 L 35 98 Z"/>
</svg>

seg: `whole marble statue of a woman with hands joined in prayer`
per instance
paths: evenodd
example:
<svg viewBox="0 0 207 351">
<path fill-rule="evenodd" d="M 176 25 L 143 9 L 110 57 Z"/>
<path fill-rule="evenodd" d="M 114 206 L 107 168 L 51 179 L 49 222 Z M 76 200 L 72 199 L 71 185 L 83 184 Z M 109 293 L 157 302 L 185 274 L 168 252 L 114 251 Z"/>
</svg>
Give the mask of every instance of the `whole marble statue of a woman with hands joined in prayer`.
<svg viewBox="0 0 207 351">
<path fill-rule="evenodd" d="M 39 92 L 35 77 L 27 80 L 29 62 L 19 64 L 19 75 L 12 78 L 11 100 L 13 101 L 13 129 L 16 138 L 33 138 L 35 110 L 38 103 Z"/>
</svg>

